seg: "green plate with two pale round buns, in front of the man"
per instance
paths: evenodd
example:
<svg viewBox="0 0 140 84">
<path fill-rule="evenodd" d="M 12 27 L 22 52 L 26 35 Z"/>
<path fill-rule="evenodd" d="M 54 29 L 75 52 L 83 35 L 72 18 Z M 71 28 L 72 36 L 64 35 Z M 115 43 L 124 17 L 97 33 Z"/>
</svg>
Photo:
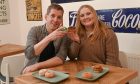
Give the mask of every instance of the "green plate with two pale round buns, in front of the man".
<svg viewBox="0 0 140 84">
<path fill-rule="evenodd" d="M 65 79 L 67 79 L 69 77 L 68 74 L 65 74 L 65 73 L 62 73 L 62 72 L 59 72 L 59 71 L 54 71 L 54 70 L 49 70 L 49 71 L 54 72 L 56 76 L 54 78 L 46 78 L 44 76 L 40 76 L 38 74 L 38 71 L 33 72 L 32 76 L 35 77 L 35 78 L 50 82 L 50 83 L 58 83 L 58 82 L 60 82 L 62 80 L 65 80 Z"/>
</svg>

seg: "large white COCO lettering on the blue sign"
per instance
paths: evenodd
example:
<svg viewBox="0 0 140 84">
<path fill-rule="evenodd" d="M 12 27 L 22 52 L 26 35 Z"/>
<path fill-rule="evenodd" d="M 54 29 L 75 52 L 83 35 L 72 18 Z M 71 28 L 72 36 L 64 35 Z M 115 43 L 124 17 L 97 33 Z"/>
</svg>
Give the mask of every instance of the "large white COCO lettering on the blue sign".
<svg viewBox="0 0 140 84">
<path fill-rule="evenodd" d="M 140 21 L 140 14 L 129 14 L 126 16 L 122 14 L 123 10 L 120 9 L 112 14 L 112 27 L 125 27 L 125 28 L 136 28 Z"/>
</svg>

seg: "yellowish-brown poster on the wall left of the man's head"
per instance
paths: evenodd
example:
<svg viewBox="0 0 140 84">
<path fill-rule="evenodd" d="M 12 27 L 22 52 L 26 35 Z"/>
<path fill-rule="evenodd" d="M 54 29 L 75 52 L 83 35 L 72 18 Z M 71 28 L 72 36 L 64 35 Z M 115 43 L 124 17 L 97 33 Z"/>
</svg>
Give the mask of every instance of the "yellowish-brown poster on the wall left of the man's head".
<svg viewBox="0 0 140 84">
<path fill-rule="evenodd" d="M 26 0 L 27 21 L 42 21 L 41 0 Z"/>
</svg>

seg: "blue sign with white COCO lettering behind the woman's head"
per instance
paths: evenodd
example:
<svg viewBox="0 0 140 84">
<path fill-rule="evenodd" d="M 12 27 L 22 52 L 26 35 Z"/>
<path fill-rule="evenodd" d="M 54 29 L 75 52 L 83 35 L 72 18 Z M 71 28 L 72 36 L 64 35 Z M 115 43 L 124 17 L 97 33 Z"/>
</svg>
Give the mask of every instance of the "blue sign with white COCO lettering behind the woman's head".
<svg viewBox="0 0 140 84">
<path fill-rule="evenodd" d="M 98 17 L 115 32 L 140 33 L 140 8 L 96 10 Z M 76 11 L 69 12 L 69 26 L 76 22 Z"/>
</svg>

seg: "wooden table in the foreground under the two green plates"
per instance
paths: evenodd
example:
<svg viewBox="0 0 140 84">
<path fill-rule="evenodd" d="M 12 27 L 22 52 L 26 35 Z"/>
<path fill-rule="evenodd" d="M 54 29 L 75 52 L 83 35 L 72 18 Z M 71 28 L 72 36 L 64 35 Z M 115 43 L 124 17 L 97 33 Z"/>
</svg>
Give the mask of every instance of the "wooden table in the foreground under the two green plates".
<svg viewBox="0 0 140 84">
<path fill-rule="evenodd" d="M 65 64 L 53 67 L 51 69 L 69 72 L 70 77 L 60 84 L 125 84 L 135 78 L 138 72 L 127 68 L 103 65 L 109 68 L 109 73 L 100 79 L 88 82 L 75 78 L 75 74 L 87 66 L 95 65 L 93 62 L 67 61 Z M 16 84 L 46 84 L 47 82 L 34 78 L 31 73 L 15 77 Z M 49 83 L 48 83 L 49 84 Z"/>
</svg>

